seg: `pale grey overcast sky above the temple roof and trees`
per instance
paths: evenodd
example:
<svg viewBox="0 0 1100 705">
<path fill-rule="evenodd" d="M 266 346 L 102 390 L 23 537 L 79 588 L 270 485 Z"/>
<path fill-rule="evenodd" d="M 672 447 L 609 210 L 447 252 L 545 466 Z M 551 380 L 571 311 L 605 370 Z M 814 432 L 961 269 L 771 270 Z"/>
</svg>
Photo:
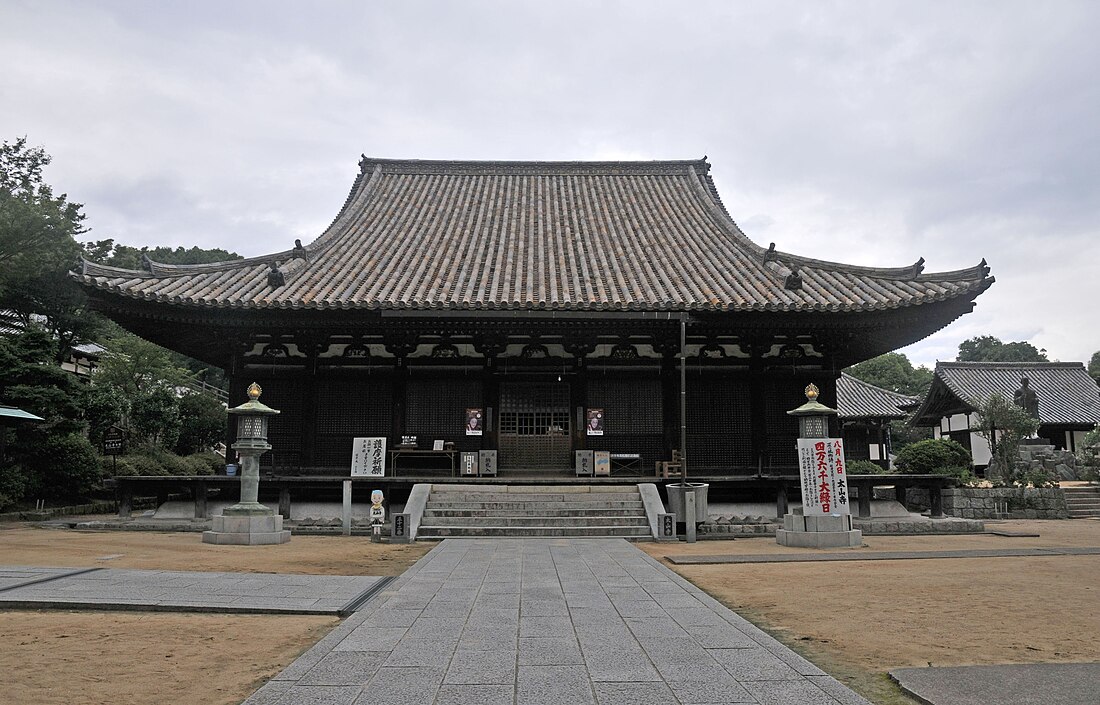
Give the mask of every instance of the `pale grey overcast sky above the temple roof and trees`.
<svg viewBox="0 0 1100 705">
<path fill-rule="evenodd" d="M 316 5 L 316 7 L 314 7 Z M 767 246 L 989 261 L 905 352 L 1100 350 L 1100 3 L 0 0 L 0 140 L 53 155 L 88 239 L 309 242 L 361 153 L 704 154 Z"/>
</svg>

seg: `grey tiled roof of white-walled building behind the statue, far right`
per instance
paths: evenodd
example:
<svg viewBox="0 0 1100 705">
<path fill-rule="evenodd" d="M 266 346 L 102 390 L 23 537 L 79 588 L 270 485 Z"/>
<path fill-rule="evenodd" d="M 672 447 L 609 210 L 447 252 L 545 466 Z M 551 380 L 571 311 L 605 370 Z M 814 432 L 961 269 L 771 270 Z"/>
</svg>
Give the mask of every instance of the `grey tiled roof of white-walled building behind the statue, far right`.
<svg viewBox="0 0 1100 705">
<path fill-rule="evenodd" d="M 1038 400 L 1043 423 L 1100 423 L 1100 389 L 1079 362 L 941 362 L 936 363 L 935 387 L 943 386 L 971 410 L 994 393 L 1012 400 L 1021 377 L 1027 377 Z M 930 393 L 916 418 L 935 422 L 942 416 Z"/>
</svg>

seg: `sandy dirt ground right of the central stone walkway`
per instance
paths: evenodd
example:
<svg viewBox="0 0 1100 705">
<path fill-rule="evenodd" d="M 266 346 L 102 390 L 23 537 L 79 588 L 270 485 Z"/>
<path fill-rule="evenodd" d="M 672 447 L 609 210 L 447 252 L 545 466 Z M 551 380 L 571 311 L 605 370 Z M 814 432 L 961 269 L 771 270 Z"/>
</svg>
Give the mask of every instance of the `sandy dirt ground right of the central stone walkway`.
<svg viewBox="0 0 1100 705">
<path fill-rule="evenodd" d="M 1100 547 L 1100 521 L 1005 521 L 998 536 L 867 537 L 861 549 Z M 773 538 L 638 544 L 654 558 L 805 553 Z M 1100 661 L 1100 555 L 674 565 L 876 703 L 902 667 Z"/>
</svg>

